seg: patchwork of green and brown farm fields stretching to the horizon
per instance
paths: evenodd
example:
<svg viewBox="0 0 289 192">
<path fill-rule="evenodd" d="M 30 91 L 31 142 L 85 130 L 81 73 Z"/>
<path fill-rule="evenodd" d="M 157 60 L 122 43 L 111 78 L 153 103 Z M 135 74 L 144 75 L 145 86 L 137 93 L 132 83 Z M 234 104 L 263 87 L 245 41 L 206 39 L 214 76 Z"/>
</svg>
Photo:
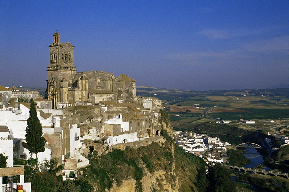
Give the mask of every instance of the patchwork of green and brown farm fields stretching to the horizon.
<svg viewBox="0 0 289 192">
<path fill-rule="evenodd" d="M 208 111 L 209 117 L 228 121 L 253 120 L 259 128 L 278 123 L 288 125 L 289 122 L 286 119 L 289 118 L 289 88 L 193 91 L 142 87 L 137 94 L 161 99 L 174 128 L 192 128 L 205 122 L 215 122 L 203 116 L 208 108 L 214 109 Z M 190 110 L 189 113 L 187 110 Z M 264 122 L 270 119 L 275 122 Z M 238 123 L 236 126 L 244 130 L 254 129 L 245 124 Z"/>
</svg>

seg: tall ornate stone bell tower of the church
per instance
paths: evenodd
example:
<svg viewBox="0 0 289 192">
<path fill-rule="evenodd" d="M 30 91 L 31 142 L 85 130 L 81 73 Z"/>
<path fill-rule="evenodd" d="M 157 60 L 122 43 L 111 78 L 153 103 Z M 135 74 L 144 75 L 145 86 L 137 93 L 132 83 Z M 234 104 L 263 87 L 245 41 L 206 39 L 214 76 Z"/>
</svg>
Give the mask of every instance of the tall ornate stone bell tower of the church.
<svg viewBox="0 0 289 192">
<path fill-rule="evenodd" d="M 50 57 L 49 64 L 47 66 L 47 90 L 45 92 L 45 98 L 52 100 L 52 107 L 56 108 L 57 102 L 67 96 L 61 96 L 63 92 L 60 92 L 62 87 L 62 79 L 68 81 L 68 88 L 72 87 L 73 77 L 76 71 L 76 65 L 74 64 L 74 47 L 68 41 L 66 43 L 60 43 L 60 33 L 56 31 L 53 34 L 53 43 L 49 45 Z"/>
</svg>

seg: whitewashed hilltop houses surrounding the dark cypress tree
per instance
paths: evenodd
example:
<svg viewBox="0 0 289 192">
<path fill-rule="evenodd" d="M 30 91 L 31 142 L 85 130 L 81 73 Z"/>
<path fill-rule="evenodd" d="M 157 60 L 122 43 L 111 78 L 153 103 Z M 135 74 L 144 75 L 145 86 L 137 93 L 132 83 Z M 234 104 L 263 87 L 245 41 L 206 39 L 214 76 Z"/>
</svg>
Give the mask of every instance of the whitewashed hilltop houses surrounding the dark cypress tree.
<svg viewBox="0 0 289 192">
<path fill-rule="evenodd" d="M 35 154 L 30 154 L 28 149 L 22 146 L 22 142 L 25 141 L 29 110 L 30 105 L 27 103 L 16 103 L 15 107 L 9 108 L 3 105 L 2 109 L 0 109 L 0 153 L 8 156 L 6 160 L 8 169 L 4 170 L 6 168 L 2 168 L 3 170 L 0 170 L 1 181 L 2 177 L 5 177 L 6 171 L 9 172 L 9 169 L 15 168 L 13 166 L 14 157 L 26 160 L 30 157 L 36 158 Z M 76 124 L 70 124 L 69 118 L 64 117 L 63 114 L 56 115 L 55 113 L 59 113 L 58 110 L 49 110 L 49 112 L 50 113 L 47 113 L 47 109 L 37 110 L 37 116 L 42 125 L 43 136 L 47 140 L 45 151 L 38 153 L 38 162 L 41 164 L 45 159 L 50 160 L 53 151 L 63 150 L 65 153 L 61 153 L 58 159 L 62 159 L 63 161 L 67 157 L 64 157 L 62 154 L 70 152 L 75 154 L 75 158 L 82 159 L 82 161 L 77 164 L 77 168 L 87 165 L 89 163 L 88 159 L 83 157 L 79 150 L 77 150 L 83 145 L 83 142 L 79 139 L 80 128 L 77 128 Z M 54 157 L 57 156 L 55 155 Z M 75 170 L 71 171 L 75 172 Z M 3 172 L 3 174 L 1 172 Z M 24 177 L 24 175 L 21 174 L 20 176 L 21 178 Z M 21 179 L 21 181 L 24 181 L 24 178 Z M 19 185 L 20 184 L 23 185 L 26 191 L 31 190 L 30 183 L 22 182 L 19 183 Z"/>
</svg>

